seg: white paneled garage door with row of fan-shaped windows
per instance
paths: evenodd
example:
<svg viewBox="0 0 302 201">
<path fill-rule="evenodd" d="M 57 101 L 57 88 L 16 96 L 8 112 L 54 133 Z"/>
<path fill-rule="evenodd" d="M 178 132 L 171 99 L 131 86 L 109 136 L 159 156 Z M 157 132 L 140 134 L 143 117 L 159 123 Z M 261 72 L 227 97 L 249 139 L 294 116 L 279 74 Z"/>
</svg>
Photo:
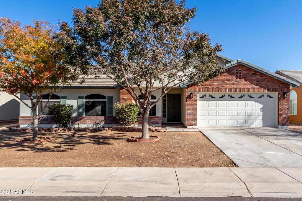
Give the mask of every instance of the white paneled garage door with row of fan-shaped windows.
<svg viewBox="0 0 302 201">
<path fill-rule="evenodd" d="M 199 127 L 276 127 L 276 93 L 203 93 Z"/>
</svg>

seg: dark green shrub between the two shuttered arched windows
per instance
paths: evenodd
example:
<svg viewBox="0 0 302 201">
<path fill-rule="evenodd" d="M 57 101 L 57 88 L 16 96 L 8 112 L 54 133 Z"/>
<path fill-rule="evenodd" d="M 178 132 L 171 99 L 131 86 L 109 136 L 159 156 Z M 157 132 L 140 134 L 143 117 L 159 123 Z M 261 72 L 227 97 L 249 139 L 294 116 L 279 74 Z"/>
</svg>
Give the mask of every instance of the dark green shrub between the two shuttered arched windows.
<svg viewBox="0 0 302 201">
<path fill-rule="evenodd" d="M 51 115 L 51 120 L 61 127 L 67 127 L 70 122 L 73 105 L 55 103 L 47 107 Z"/>
</svg>

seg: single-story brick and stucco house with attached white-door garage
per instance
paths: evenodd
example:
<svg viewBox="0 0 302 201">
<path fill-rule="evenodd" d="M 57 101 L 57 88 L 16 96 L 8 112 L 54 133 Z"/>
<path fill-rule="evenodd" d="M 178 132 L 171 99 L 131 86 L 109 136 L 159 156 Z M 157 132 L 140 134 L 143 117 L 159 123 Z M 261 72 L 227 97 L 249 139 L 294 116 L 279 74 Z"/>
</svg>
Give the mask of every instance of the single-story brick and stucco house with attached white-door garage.
<svg viewBox="0 0 302 201">
<path fill-rule="evenodd" d="M 186 127 L 280 127 L 289 125 L 290 86 L 299 84 L 281 75 L 259 68 L 243 60 L 233 61 L 217 56 L 225 73 L 201 85 L 183 83 L 174 87 L 153 107 L 149 124 L 182 122 Z M 89 77 L 83 85 L 63 88 L 52 102 L 74 105 L 72 125 L 75 127 L 117 124 L 113 112 L 116 102 L 132 102 L 124 89 L 115 88 L 107 77 Z M 156 100 L 161 91 L 154 91 Z M 29 102 L 29 100 L 24 101 Z M 31 126 L 31 111 L 21 105 L 19 123 Z M 138 118 L 136 124 L 141 124 Z M 40 127 L 55 126 L 50 116 L 40 118 Z"/>
</svg>

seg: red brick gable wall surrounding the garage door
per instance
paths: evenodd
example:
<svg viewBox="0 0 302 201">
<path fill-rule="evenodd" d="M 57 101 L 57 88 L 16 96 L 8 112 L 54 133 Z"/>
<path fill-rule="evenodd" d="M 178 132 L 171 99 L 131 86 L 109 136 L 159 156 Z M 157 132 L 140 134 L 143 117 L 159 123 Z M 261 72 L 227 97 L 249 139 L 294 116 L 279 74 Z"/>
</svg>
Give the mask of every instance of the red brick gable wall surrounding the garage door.
<svg viewBox="0 0 302 201">
<path fill-rule="evenodd" d="M 233 71 L 243 71 L 243 81 L 233 81 Z M 278 92 L 278 125 L 289 125 L 289 84 L 255 71 L 242 64 L 226 69 L 226 72 L 201 85 L 186 88 L 186 126 L 197 126 L 197 92 Z M 283 99 L 283 92 L 287 93 Z M 190 99 L 190 93 L 193 98 Z"/>
</svg>

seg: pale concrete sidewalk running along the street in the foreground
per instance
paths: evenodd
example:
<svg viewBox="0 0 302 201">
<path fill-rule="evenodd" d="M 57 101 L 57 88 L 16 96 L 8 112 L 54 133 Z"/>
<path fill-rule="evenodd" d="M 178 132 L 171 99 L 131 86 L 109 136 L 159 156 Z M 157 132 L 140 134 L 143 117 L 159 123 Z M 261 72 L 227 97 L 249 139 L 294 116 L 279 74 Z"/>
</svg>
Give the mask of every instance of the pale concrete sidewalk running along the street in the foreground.
<svg viewBox="0 0 302 201">
<path fill-rule="evenodd" d="M 0 196 L 302 197 L 302 168 L 0 168 Z"/>
</svg>

